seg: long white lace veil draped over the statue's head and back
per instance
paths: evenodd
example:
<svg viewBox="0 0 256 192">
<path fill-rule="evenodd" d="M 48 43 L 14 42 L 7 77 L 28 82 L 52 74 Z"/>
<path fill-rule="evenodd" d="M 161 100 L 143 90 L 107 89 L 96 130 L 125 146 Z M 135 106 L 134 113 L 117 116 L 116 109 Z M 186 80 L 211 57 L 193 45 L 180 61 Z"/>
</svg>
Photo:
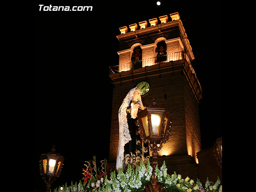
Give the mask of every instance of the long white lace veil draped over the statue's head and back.
<svg viewBox="0 0 256 192">
<path fill-rule="evenodd" d="M 116 170 L 119 170 L 120 168 L 123 167 L 124 145 L 126 143 L 128 143 L 130 140 L 132 140 L 132 138 L 130 136 L 129 128 L 128 128 L 128 123 L 127 123 L 126 109 L 130 106 L 130 102 L 132 101 L 133 93 L 136 89 L 138 89 L 138 88 L 132 88 L 128 92 L 128 94 L 124 98 L 122 105 L 120 106 L 119 111 L 118 111 L 119 143 L 118 143 L 118 154 L 117 154 L 117 158 L 116 158 Z M 140 95 L 139 95 L 137 102 L 142 104 Z M 138 111 L 136 111 L 136 114 L 134 114 L 135 118 L 137 117 L 137 112 Z"/>
</svg>

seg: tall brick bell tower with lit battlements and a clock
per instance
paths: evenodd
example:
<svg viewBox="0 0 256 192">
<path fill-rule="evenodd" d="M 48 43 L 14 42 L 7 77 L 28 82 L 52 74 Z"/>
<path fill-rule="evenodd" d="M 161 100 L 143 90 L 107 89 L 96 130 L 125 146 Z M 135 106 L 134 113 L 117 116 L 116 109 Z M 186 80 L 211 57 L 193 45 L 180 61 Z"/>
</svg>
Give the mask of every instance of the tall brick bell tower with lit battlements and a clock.
<svg viewBox="0 0 256 192">
<path fill-rule="evenodd" d="M 109 161 L 114 164 L 118 153 L 119 107 L 129 90 L 138 87 L 144 106 L 156 98 L 172 114 L 169 140 L 159 152 L 158 162 L 165 160 L 170 172 L 196 176 L 202 90 L 178 12 L 119 29 L 119 64 L 110 66 L 109 74 L 114 85 Z"/>
</svg>

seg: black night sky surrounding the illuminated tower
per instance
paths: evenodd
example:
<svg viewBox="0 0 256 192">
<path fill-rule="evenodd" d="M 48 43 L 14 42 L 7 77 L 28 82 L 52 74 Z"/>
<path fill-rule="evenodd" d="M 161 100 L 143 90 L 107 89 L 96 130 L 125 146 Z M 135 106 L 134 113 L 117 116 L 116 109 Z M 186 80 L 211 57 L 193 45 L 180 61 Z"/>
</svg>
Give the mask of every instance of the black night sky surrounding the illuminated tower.
<svg viewBox="0 0 256 192">
<path fill-rule="evenodd" d="M 34 191 L 44 191 L 40 154 L 64 157 L 54 186 L 82 180 L 84 161 L 108 159 L 112 110 L 109 66 L 118 65 L 119 28 L 178 12 L 202 87 L 202 149 L 222 137 L 222 2 L 34 1 Z M 92 11 L 39 11 L 93 6 Z"/>
</svg>

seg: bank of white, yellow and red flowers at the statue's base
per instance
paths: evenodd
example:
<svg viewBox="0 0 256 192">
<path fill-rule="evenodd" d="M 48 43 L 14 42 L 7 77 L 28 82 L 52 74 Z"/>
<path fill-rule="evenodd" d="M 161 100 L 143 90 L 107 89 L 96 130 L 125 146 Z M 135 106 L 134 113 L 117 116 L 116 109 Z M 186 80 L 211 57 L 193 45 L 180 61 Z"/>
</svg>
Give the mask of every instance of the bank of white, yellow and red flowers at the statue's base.
<svg viewBox="0 0 256 192">
<path fill-rule="evenodd" d="M 99 174 L 97 174 L 94 156 L 94 167 L 91 166 L 90 162 L 87 162 L 88 164 L 85 164 L 86 169 L 83 169 L 84 183 L 81 181 L 74 185 L 71 183 L 71 186 L 65 185 L 62 189 L 59 187 L 54 192 L 139 192 L 143 190 L 143 186 L 146 183 L 150 182 L 153 169 L 150 166 L 149 159 L 146 164 L 140 161 L 140 164 L 135 169 L 128 165 L 126 170 L 121 168 L 117 174 L 115 171 L 112 171 L 110 173 L 110 180 L 107 177 L 108 164 L 106 160 L 101 162 L 102 166 L 99 169 Z M 158 164 L 156 165 L 155 174 L 157 175 L 158 182 L 164 185 L 167 192 L 222 192 L 220 178 L 214 184 L 207 178 L 205 187 L 203 187 L 199 179 L 195 182 L 189 177 L 183 179 L 176 172 L 172 175 L 168 174 L 165 161 L 160 169 Z M 96 178 L 98 178 L 97 182 Z"/>
</svg>

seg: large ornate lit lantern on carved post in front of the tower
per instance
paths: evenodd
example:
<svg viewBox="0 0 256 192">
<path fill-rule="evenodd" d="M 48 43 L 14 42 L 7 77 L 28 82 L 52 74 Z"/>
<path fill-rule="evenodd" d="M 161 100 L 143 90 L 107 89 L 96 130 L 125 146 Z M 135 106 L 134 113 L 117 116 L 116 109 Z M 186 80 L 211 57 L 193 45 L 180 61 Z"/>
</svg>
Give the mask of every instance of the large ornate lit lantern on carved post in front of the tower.
<svg viewBox="0 0 256 192">
<path fill-rule="evenodd" d="M 153 98 L 152 105 L 148 108 L 138 112 L 138 130 L 140 138 L 148 143 L 150 150 L 152 150 L 152 176 L 150 183 L 144 186 L 145 192 L 165 191 L 164 186 L 157 182 L 155 174 L 155 167 L 158 164 L 158 151 L 162 148 L 162 144 L 169 138 L 171 114 L 163 106 L 157 106 L 155 98 Z"/>
</svg>

